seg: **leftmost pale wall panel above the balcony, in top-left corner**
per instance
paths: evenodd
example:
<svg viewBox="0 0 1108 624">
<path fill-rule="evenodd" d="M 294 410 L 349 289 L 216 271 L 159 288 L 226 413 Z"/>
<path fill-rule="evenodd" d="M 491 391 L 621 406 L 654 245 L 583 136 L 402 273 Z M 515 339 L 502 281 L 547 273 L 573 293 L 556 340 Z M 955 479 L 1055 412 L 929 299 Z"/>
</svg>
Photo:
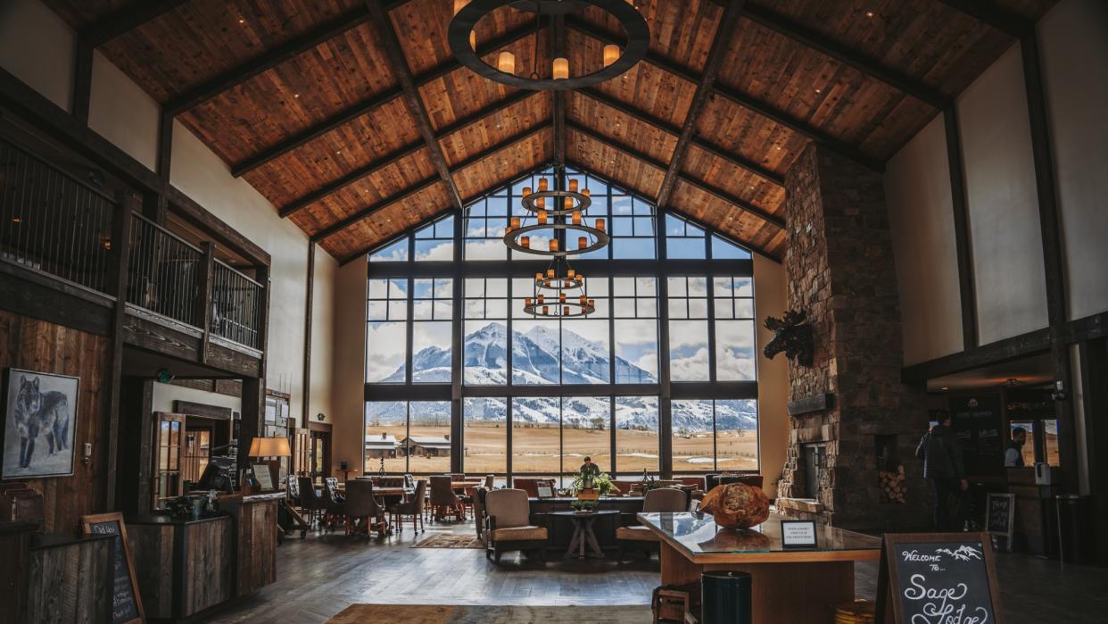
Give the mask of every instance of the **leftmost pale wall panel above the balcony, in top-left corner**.
<svg viewBox="0 0 1108 624">
<path fill-rule="evenodd" d="M 0 0 L 0 67 L 69 111 L 73 31 L 38 0 Z"/>
</svg>

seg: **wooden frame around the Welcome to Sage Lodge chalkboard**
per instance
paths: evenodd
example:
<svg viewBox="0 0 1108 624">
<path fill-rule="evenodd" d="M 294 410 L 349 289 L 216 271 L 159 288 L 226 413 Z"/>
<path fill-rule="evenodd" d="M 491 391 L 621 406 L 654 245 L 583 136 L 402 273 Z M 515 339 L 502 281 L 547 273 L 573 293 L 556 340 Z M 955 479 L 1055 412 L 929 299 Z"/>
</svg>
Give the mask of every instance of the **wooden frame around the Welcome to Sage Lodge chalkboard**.
<svg viewBox="0 0 1108 624">
<path fill-rule="evenodd" d="M 996 581 L 996 566 L 993 564 L 993 544 L 988 533 L 885 533 L 881 541 L 881 560 L 878 570 L 878 601 L 874 610 L 876 624 L 910 624 L 904 617 L 904 608 L 899 595 L 893 595 L 901 587 L 896 567 L 896 550 L 900 544 L 942 544 L 942 543 L 979 543 L 982 560 L 985 566 L 985 577 L 988 582 L 988 604 L 992 608 L 995 624 L 1004 624 L 1004 612 L 1001 610 L 1001 591 Z"/>
</svg>

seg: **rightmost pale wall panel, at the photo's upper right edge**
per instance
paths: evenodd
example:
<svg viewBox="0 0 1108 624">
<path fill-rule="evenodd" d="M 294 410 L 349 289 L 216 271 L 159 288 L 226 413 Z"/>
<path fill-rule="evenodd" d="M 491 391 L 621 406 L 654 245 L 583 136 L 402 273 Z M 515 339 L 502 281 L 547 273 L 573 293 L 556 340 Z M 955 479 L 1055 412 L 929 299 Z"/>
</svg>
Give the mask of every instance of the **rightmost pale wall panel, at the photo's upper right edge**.
<svg viewBox="0 0 1108 624">
<path fill-rule="evenodd" d="M 1108 310 L 1108 2 L 1066 0 L 1038 24 L 1070 318 Z"/>
</svg>

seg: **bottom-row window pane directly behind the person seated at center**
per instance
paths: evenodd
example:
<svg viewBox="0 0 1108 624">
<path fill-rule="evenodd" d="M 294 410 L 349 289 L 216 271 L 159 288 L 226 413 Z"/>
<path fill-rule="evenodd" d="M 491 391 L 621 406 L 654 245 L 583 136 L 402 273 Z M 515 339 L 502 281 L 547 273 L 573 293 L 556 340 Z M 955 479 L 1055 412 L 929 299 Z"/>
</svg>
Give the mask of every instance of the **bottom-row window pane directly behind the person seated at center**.
<svg viewBox="0 0 1108 624">
<path fill-rule="evenodd" d="M 562 470 L 566 475 L 576 475 L 586 457 L 596 462 L 601 472 L 612 470 L 611 424 L 608 397 L 562 399 Z"/>
</svg>

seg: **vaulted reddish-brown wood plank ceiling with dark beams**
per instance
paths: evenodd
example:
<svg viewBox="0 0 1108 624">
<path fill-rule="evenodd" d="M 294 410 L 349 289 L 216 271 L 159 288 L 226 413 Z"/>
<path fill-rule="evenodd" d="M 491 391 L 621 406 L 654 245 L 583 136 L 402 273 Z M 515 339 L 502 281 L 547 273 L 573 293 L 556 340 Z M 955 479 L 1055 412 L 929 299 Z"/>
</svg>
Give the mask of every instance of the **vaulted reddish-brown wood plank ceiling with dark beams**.
<svg viewBox="0 0 1108 624">
<path fill-rule="evenodd" d="M 780 258 L 806 143 L 882 168 L 1053 0 L 635 0 L 647 58 L 564 95 L 461 67 L 451 0 L 48 3 L 340 259 L 558 161 Z M 564 45 L 575 72 L 622 37 L 595 8 L 476 33 L 488 62 Z"/>
</svg>

